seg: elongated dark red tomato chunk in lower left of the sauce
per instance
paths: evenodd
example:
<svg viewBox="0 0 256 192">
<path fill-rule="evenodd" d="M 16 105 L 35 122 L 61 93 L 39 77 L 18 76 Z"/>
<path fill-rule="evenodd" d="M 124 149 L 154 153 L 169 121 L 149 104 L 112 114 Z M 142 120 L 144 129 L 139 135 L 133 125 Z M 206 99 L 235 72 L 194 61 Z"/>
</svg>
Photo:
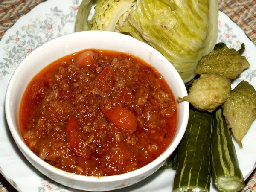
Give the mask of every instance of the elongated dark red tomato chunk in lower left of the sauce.
<svg viewBox="0 0 256 192">
<path fill-rule="evenodd" d="M 71 149 L 80 157 L 89 158 L 90 150 L 84 145 L 77 133 L 78 124 L 73 117 L 68 119 L 66 126 L 67 141 L 70 143 Z"/>
</svg>

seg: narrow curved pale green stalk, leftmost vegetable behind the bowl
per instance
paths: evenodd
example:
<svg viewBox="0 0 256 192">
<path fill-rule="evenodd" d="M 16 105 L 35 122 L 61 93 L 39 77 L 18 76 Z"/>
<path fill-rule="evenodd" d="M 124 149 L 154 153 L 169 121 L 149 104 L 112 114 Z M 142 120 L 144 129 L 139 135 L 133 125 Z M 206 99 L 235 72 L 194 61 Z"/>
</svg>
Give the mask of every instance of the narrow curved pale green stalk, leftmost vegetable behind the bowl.
<svg viewBox="0 0 256 192">
<path fill-rule="evenodd" d="M 93 2 L 94 0 L 83 0 L 80 4 L 76 15 L 76 32 L 88 30 L 88 16 Z"/>
</svg>

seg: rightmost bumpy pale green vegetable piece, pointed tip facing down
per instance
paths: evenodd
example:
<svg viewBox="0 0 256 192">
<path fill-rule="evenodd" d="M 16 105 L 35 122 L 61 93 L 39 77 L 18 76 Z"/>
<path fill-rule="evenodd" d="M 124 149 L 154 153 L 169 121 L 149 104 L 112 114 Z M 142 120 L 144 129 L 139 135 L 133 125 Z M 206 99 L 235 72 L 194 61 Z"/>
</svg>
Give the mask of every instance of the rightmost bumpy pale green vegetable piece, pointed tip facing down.
<svg viewBox="0 0 256 192">
<path fill-rule="evenodd" d="M 241 81 L 231 91 L 223 105 L 223 115 L 228 127 L 242 147 L 242 139 L 256 118 L 256 91 L 247 81 Z"/>
</svg>

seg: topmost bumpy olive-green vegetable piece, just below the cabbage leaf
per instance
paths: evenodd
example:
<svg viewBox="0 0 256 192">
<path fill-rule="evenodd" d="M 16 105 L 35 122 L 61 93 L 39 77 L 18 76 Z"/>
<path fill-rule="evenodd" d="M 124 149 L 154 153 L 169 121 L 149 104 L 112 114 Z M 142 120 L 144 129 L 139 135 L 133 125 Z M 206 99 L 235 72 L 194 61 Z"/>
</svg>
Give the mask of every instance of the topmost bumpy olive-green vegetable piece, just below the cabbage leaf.
<svg viewBox="0 0 256 192">
<path fill-rule="evenodd" d="M 195 72 L 198 74 L 216 73 L 229 79 L 235 79 L 250 63 L 235 49 L 227 46 L 213 50 L 198 61 Z"/>
</svg>

